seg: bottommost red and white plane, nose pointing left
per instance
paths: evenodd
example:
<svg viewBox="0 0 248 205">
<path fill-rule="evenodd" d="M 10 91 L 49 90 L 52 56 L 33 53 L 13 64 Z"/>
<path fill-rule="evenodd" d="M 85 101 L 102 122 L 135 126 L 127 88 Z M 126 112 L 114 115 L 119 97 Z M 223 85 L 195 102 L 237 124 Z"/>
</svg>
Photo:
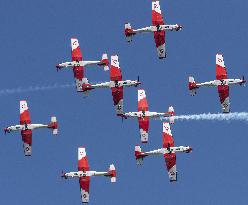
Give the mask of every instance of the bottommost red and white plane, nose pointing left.
<svg viewBox="0 0 248 205">
<path fill-rule="evenodd" d="M 63 173 L 61 177 L 68 178 L 79 178 L 81 199 L 83 203 L 89 202 L 89 190 L 90 190 L 90 177 L 92 176 L 105 176 L 110 177 L 111 182 L 116 182 L 116 170 L 115 166 L 111 164 L 107 172 L 90 171 L 88 158 L 84 147 L 78 148 L 78 171 Z"/>
</svg>

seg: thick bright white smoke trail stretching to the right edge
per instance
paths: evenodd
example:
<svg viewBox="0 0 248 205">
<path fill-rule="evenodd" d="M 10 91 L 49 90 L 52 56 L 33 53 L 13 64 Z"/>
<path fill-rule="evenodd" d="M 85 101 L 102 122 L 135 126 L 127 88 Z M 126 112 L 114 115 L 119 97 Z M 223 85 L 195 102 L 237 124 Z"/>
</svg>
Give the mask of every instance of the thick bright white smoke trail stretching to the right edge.
<svg viewBox="0 0 248 205">
<path fill-rule="evenodd" d="M 203 113 L 203 114 L 194 114 L 194 115 L 178 115 L 173 117 L 174 120 L 218 120 L 218 121 L 246 121 L 248 122 L 248 112 L 232 112 L 232 113 Z M 168 117 L 163 117 L 161 120 L 169 120 Z"/>
</svg>

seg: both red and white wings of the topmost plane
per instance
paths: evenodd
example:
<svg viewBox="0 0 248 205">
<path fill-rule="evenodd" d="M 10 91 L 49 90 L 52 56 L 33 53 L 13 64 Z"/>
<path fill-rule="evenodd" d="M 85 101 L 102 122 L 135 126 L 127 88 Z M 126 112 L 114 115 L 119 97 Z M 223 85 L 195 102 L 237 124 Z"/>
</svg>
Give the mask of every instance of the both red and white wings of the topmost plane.
<svg viewBox="0 0 248 205">
<path fill-rule="evenodd" d="M 164 25 L 164 20 L 162 16 L 162 12 L 160 9 L 159 1 L 153 0 L 152 1 L 152 25 Z M 155 31 L 154 32 L 154 40 L 157 47 L 157 53 L 159 58 L 166 57 L 165 51 L 165 30 L 162 31 Z"/>
</svg>

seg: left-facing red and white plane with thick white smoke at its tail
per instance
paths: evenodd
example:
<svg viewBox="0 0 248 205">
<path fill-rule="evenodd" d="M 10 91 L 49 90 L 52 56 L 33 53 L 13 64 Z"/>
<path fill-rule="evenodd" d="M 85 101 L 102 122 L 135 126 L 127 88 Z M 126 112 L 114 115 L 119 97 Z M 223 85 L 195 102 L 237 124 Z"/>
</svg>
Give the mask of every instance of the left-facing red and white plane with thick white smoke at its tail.
<svg viewBox="0 0 248 205">
<path fill-rule="evenodd" d="M 149 120 L 150 118 L 162 118 L 168 117 L 170 123 L 174 123 L 174 108 L 169 106 L 168 112 L 150 112 L 148 110 L 148 102 L 146 99 L 145 90 L 138 90 L 138 112 L 127 112 L 119 114 L 120 117 L 127 119 L 128 117 L 138 118 L 140 137 L 142 143 L 148 142 L 148 130 L 149 130 Z"/>
</svg>

